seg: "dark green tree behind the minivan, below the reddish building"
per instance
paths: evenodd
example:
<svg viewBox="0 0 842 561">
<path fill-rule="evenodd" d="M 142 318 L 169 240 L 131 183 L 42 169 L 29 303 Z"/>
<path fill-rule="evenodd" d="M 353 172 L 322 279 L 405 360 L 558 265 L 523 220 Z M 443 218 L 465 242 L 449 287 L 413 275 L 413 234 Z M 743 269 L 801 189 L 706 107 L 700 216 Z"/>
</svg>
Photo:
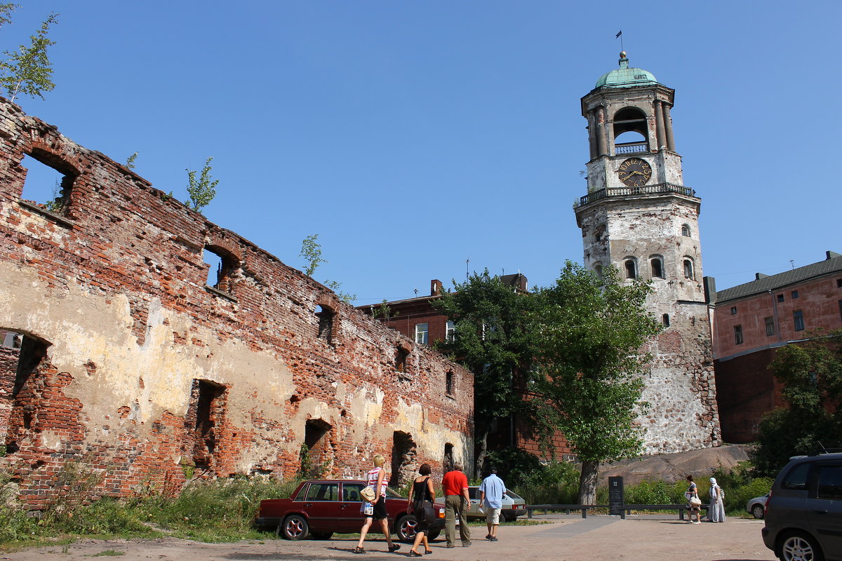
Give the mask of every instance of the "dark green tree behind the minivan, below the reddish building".
<svg viewBox="0 0 842 561">
<path fill-rule="evenodd" d="M 787 407 L 760 421 L 753 458 L 758 474 L 773 476 L 791 456 L 842 445 L 842 331 L 808 336 L 779 348 L 769 365 Z"/>
</svg>

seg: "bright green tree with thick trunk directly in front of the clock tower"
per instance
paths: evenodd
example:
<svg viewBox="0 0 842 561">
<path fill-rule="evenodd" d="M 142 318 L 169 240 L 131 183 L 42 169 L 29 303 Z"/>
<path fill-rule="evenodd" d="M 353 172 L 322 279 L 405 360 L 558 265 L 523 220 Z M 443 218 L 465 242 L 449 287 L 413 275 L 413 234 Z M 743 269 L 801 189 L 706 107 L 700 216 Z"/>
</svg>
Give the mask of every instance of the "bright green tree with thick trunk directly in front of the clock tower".
<svg viewBox="0 0 842 561">
<path fill-rule="evenodd" d="M 545 437 L 560 429 L 575 449 L 582 504 L 596 500 L 600 463 L 640 453 L 636 419 L 647 406 L 640 374 L 651 359 L 643 348 L 661 330 L 646 310 L 650 290 L 640 280 L 621 283 L 614 269 L 600 278 L 568 261 L 535 295 L 536 419 Z"/>
</svg>

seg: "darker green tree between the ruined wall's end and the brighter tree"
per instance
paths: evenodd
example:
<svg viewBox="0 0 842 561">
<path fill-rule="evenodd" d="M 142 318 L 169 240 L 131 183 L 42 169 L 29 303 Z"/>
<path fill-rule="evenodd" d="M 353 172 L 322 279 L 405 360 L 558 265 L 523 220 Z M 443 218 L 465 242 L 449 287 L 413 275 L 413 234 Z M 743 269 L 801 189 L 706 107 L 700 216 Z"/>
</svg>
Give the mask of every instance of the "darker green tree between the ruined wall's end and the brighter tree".
<svg viewBox="0 0 842 561">
<path fill-rule="evenodd" d="M 478 478 L 494 421 L 525 412 L 523 391 L 538 352 L 536 333 L 530 329 L 534 299 L 488 269 L 454 284 L 455 292 L 442 293 L 432 304 L 454 321 L 456 335 L 435 345 L 474 375 L 474 477 Z"/>
</svg>

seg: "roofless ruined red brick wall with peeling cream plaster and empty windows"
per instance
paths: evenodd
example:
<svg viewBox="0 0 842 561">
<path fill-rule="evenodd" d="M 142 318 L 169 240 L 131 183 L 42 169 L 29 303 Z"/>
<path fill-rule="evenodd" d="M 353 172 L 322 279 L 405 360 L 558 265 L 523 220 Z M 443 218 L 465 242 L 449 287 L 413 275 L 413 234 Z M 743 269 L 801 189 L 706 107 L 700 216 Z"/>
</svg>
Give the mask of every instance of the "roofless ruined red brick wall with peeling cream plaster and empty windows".
<svg viewBox="0 0 842 561">
<path fill-rule="evenodd" d="M 339 477 L 396 446 L 402 470 L 472 460 L 465 369 L 5 100 L 0 141 L 0 329 L 29 346 L 0 357 L 0 468 L 24 504 L 72 461 L 104 495 L 289 476 L 308 436 Z M 51 211 L 21 199 L 24 154 L 65 176 Z"/>
</svg>

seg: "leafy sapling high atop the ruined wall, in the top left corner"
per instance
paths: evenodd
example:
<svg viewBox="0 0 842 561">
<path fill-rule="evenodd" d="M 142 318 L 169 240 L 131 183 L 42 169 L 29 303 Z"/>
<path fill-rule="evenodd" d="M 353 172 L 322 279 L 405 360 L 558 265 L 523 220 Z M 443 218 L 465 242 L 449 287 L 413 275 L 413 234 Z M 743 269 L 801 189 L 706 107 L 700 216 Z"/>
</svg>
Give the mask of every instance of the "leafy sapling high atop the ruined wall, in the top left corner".
<svg viewBox="0 0 842 561">
<path fill-rule="evenodd" d="M 8 24 L 13 4 L 0 5 L 0 24 Z M 11 101 L 19 94 L 44 98 L 44 92 L 51 92 L 56 84 L 52 82 L 52 65 L 47 49 L 55 45 L 47 34 L 50 26 L 58 22 L 58 14 L 51 13 L 34 35 L 29 36 L 29 46 L 20 45 L 19 50 L 5 51 L 8 57 L 0 63 L 0 86 L 8 93 Z"/>
</svg>

